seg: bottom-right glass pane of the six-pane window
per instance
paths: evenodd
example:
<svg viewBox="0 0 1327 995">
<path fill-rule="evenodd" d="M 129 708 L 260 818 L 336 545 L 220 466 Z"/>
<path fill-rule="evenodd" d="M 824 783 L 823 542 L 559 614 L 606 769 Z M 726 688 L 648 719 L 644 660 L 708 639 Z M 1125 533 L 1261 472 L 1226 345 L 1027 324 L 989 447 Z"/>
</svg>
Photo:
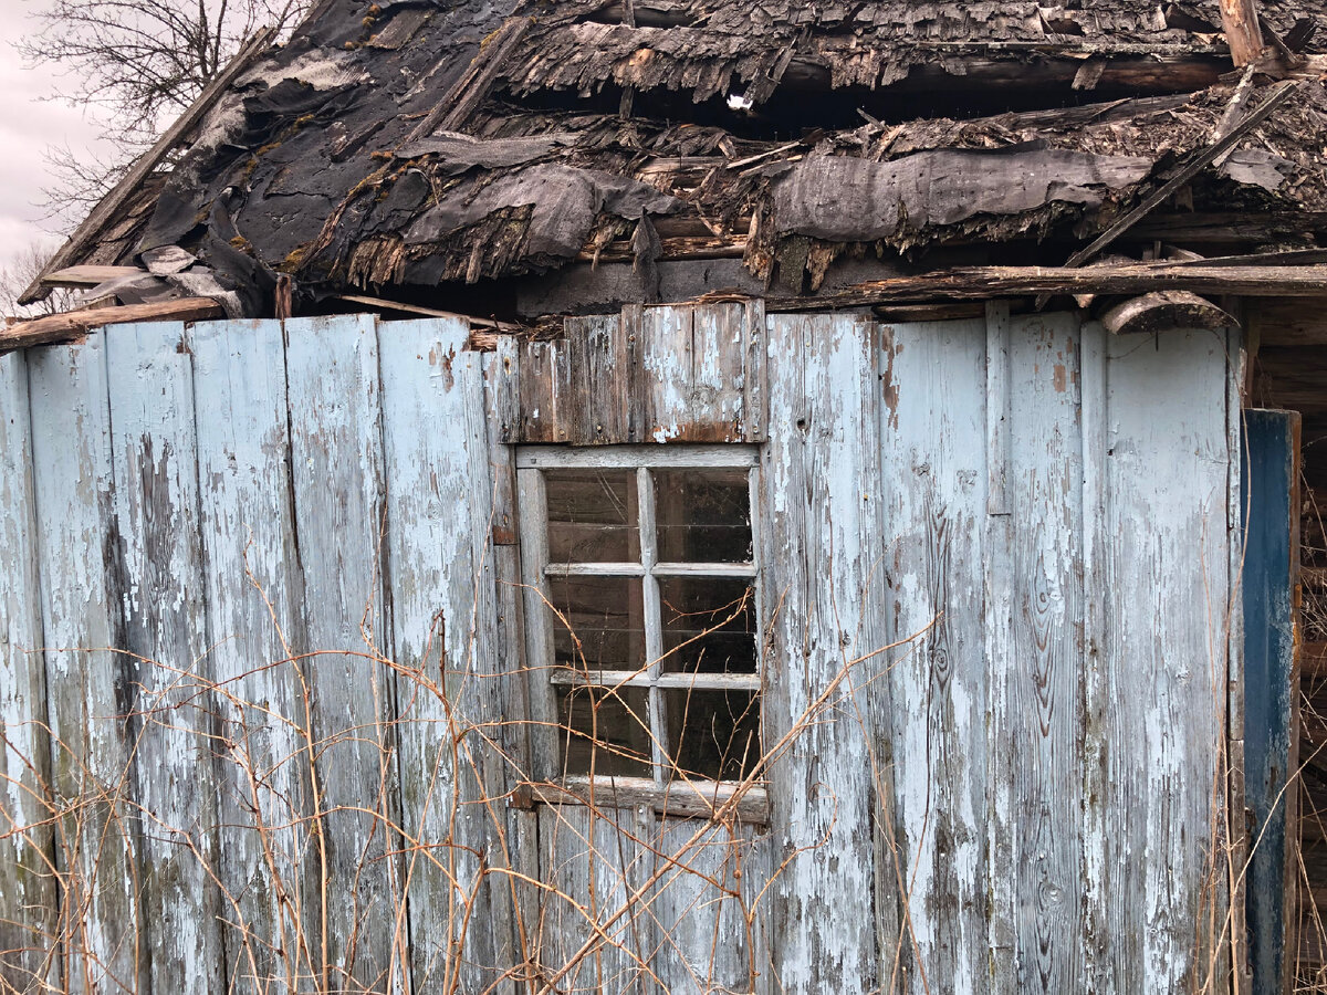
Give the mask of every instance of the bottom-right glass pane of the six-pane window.
<svg viewBox="0 0 1327 995">
<path fill-rule="evenodd" d="M 760 698 L 705 687 L 665 691 L 669 756 L 690 777 L 740 780 L 760 759 Z"/>
</svg>

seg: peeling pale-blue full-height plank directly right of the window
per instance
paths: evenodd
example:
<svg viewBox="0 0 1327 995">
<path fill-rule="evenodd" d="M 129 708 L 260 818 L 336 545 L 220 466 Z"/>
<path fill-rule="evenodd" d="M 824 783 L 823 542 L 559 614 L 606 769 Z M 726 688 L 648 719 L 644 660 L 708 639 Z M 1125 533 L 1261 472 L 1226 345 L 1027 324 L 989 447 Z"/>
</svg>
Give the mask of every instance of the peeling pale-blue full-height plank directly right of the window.
<svg viewBox="0 0 1327 995">
<path fill-rule="evenodd" d="M 873 784 L 855 693 L 884 670 L 863 620 L 882 616 L 864 548 L 863 500 L 878 426 L 863 419 L 876 389 L 869 336 L 849 317 L 772 316 L 770 443 L 763 451 L 763 617 L 770 659 L 766 750 L 771 825 L 784 864 L 768 914 L 771 970 L 791 991 L 877 986 L 872 874 Z"/>
</svg>

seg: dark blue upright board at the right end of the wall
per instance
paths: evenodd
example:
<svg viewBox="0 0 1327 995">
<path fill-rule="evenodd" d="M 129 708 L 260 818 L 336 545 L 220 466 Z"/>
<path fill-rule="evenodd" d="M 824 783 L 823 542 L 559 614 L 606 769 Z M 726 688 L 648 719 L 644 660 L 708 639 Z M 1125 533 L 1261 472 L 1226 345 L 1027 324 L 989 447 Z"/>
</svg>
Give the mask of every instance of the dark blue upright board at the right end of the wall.
<svg viewBox="0 0 1327 995">
<path fill-rule="evenodd" d="M 1247 877 L 1254 991 L 1289 991 L 1294 946 L 1296 700 L 1294 592 L 1299 573 L 1299 414 L 1243 413 L 1245 787 L 1255 846 Z"/>
</svg>

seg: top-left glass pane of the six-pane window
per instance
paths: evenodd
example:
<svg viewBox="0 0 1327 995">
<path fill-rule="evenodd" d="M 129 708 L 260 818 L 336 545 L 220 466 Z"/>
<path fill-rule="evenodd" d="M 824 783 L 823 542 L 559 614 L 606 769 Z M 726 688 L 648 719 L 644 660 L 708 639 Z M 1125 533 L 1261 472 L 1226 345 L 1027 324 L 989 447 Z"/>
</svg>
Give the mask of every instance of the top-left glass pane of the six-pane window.
<svg viewBox="0 0 1327 995">
<path fill-rule="evenodd" d="M 641 559 L 634 470 L 545 470 L 549 563 Z"/>
</svg>

